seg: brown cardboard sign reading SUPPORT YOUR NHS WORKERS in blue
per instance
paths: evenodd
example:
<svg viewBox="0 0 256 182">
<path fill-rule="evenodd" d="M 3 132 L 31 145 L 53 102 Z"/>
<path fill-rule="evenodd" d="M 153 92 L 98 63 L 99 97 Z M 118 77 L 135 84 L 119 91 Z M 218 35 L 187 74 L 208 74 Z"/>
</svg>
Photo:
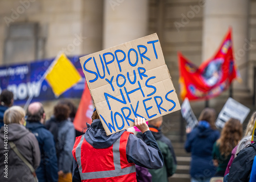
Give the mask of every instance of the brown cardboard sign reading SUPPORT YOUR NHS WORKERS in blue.
<svg viewBox="0 0 256 182">
<path fill-rule="evenodd" d="M 180 110 L 157 34 L 80 58 L 107 135 Z"/>
</svg>

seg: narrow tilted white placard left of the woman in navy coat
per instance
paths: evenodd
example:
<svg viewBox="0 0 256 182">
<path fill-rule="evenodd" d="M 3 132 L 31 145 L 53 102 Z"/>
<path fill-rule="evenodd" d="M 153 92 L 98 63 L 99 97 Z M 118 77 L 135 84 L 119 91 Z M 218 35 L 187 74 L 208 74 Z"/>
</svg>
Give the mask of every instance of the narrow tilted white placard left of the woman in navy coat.
<svg viewBox="0 0 256 182">
<path fill-rule="evenodd" d="M 191 129 L 193 129 L 198 124 L 198 120 L 190 107 L 189 100 L 187 97 L 184 99 L 181 105 L 181 114 L 182 117 L 187 122 L 186 127 L 190 127 Z"/>
</svg>

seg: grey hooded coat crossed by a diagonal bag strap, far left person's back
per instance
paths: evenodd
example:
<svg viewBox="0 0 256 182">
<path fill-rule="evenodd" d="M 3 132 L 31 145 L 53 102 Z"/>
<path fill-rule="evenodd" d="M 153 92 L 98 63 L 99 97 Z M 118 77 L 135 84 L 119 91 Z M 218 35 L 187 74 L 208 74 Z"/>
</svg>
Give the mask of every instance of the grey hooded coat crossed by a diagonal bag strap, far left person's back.
<svg viewBox="0 0 256 182">
<path fill-rule="evenodd" d="M 0 130 L 0 181 L 26 181 L 34 182 L 34 176 L 28 166 L 17 156 L 8 144 L 7 149 L 4 143 L 4 126 Z M 8 125 L 8 142 L 12 141 L 18 151 L 36 169 L 40 164 L 40 149 L 35 136 L 28 129 L 17 123 Z M 6 137 L 6 136 L 5 136 Z M 4 155 L 7 153 L 8 156 Z M 8 178 L 3 170 L 8 165 Z"/>
</svg>

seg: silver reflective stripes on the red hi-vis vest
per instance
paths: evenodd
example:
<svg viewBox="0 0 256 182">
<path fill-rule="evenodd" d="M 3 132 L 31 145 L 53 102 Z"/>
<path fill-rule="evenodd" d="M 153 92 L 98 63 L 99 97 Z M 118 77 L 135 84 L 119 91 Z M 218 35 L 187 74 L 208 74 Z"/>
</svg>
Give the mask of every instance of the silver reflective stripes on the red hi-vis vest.
<svg viewBox="0 0 256 182">
<path fill-rule="evenodd" d="M 76 161 L 78 164 L 81 180 L 97 179 L 97 178 L 105 178 L 105 177 L 116 177 L 116 176 L 121 176 L 121 175 L 136 172 L 135 165 L 121 169 L 120 152 L 119 152 L 120 137 L 119 137 L 118 140 L 115 141 L 115 143 L 113 144 L 113 159 L 114 159 L 115 170 L 83 173 L 82 165 L 81 165 L 81 146 L 82 146 L 83 140 L 84 140 L 84 135 L 81 137 L 80 142 L 76 147 Z"/>
</svg>

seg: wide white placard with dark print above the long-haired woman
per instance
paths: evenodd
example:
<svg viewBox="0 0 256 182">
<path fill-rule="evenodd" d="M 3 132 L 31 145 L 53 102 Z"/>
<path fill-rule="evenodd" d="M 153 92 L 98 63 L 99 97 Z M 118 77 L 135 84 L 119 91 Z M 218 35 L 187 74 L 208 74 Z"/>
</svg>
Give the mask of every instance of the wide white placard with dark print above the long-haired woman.
<svg viewBox="0 0 256 182">
<path fill-rule="evenodd" d="M 240 122 L 243 123 L 249 112 L 249 108 L 229 97 L 224 107 L 222 108 L 215 124 L 217 127 L 223 128 L 225 123 L 230 118 L 239 119 Z"/>
</svg>

